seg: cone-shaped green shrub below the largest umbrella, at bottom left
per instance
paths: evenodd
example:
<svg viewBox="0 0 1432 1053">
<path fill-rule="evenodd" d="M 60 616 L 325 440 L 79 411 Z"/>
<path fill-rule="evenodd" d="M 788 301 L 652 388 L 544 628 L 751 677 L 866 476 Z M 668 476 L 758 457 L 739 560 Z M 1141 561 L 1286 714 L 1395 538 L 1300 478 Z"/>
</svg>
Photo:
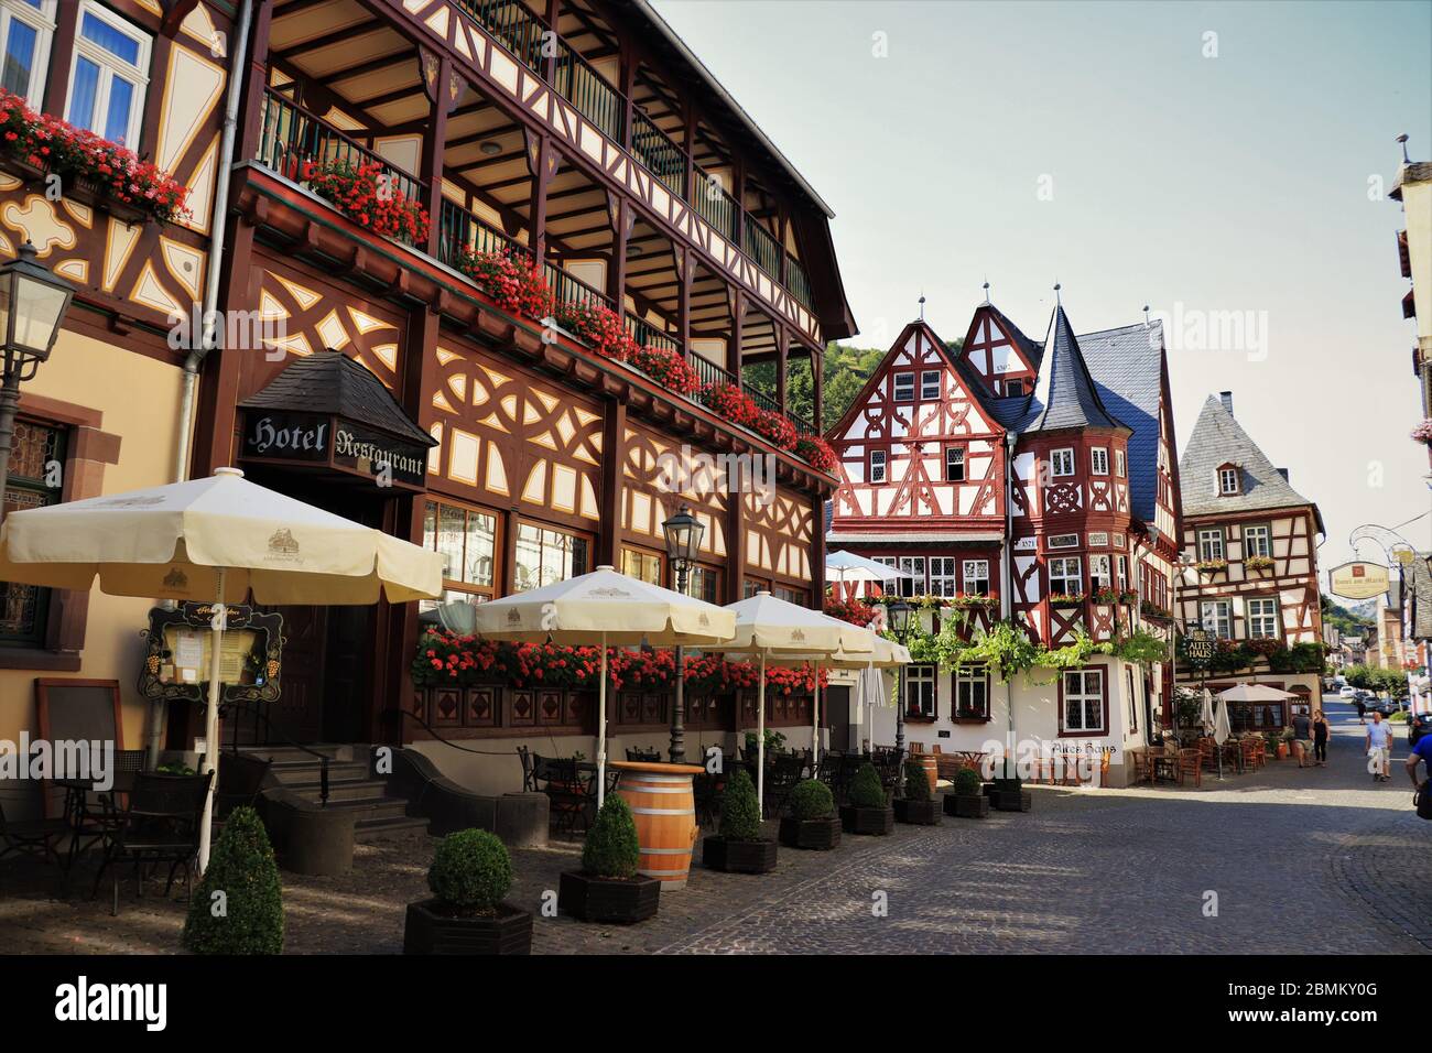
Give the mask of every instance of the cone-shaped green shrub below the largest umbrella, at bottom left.
<svg viewBox="0 0 1432 1053">
<path fill-rule="evenodd" d="M 180 938 L 193 954 L 282 953 L 278 864 L 263 821 L 252 808 L 235 808 L 225 821 L 189 901 Z"/>
</svg>

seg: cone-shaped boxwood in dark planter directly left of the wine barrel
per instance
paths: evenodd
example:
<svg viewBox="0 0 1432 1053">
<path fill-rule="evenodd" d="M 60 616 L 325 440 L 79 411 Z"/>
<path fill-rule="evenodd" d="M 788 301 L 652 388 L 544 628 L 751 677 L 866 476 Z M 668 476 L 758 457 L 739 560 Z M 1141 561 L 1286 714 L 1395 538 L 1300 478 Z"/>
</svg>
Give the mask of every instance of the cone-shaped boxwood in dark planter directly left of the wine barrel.
<svg viewBox="0 0 1432 1053">
<path fill-rule="evenodd" d="M 640 858 L 632 809 L 613 794 L 587 831 L 581 870 L 561 875 L 557 910 L 583 921 L 646 921 L 656 914 L 662 883 L 636 872 Z"/>
</svg>

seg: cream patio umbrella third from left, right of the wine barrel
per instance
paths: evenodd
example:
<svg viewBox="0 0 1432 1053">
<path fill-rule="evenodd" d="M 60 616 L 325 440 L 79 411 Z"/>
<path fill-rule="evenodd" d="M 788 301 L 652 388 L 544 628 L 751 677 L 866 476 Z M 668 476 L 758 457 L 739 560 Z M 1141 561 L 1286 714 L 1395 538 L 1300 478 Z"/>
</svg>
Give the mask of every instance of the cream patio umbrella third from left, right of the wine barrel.
<svg viewBox="0 0 1432 1053">
<path fill-rule="evenodd" d="M 766 805 L 766 660 L 818 662 L 839 652 L 874 649 L 875 633 L 819 610 L 776 599 L 769 592 L 727 605 L 736 616 L 735 639 L 723 650 L 759 655 L 756 688 L 756 802 Z M 816 689 L 819 691 L 819 682 Z"/>
</svg>

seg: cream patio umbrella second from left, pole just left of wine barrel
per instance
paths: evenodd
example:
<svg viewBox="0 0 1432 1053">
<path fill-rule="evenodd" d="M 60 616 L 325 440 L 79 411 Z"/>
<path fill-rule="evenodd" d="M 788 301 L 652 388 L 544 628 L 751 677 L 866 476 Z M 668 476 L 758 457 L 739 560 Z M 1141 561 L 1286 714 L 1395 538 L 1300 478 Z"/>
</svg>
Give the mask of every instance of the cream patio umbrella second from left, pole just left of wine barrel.
<svg viewBox="0 0 1432 1053">
<path fill-rule="evenodd" d="M 715 603 L 600 566 L 589 574 L 520 592 L 475 609 L 480 635 L 494 640 L 597 643 L 597 807 L 607 791 L 607 648 L 623 643 L 706 648 L 736 635 L 736 616 Z M 680 675 L 680 670 L 677 670 Z"/>
</svg>

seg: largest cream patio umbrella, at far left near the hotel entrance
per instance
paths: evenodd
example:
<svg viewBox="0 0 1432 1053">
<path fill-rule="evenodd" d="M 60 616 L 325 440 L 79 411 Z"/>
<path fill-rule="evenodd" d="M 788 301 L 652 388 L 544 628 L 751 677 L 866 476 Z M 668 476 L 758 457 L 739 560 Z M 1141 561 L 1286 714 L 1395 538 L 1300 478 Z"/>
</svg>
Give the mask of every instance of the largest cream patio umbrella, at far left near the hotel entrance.
<svg viewBox="0 0 1432 1053">
<path fill-rule="evenodd" d="M 11 513 L 0 530 L 0 582 L 110 596 L 213 603 L 205 715 L 206 772 L 218 768 L 225 603 L 361 605 L 442 593 L 442 557 L 372 527 L 249 483 L 208 479 Z M 199 831 L 209 865 L 213 781 Z"/>
</svg>

